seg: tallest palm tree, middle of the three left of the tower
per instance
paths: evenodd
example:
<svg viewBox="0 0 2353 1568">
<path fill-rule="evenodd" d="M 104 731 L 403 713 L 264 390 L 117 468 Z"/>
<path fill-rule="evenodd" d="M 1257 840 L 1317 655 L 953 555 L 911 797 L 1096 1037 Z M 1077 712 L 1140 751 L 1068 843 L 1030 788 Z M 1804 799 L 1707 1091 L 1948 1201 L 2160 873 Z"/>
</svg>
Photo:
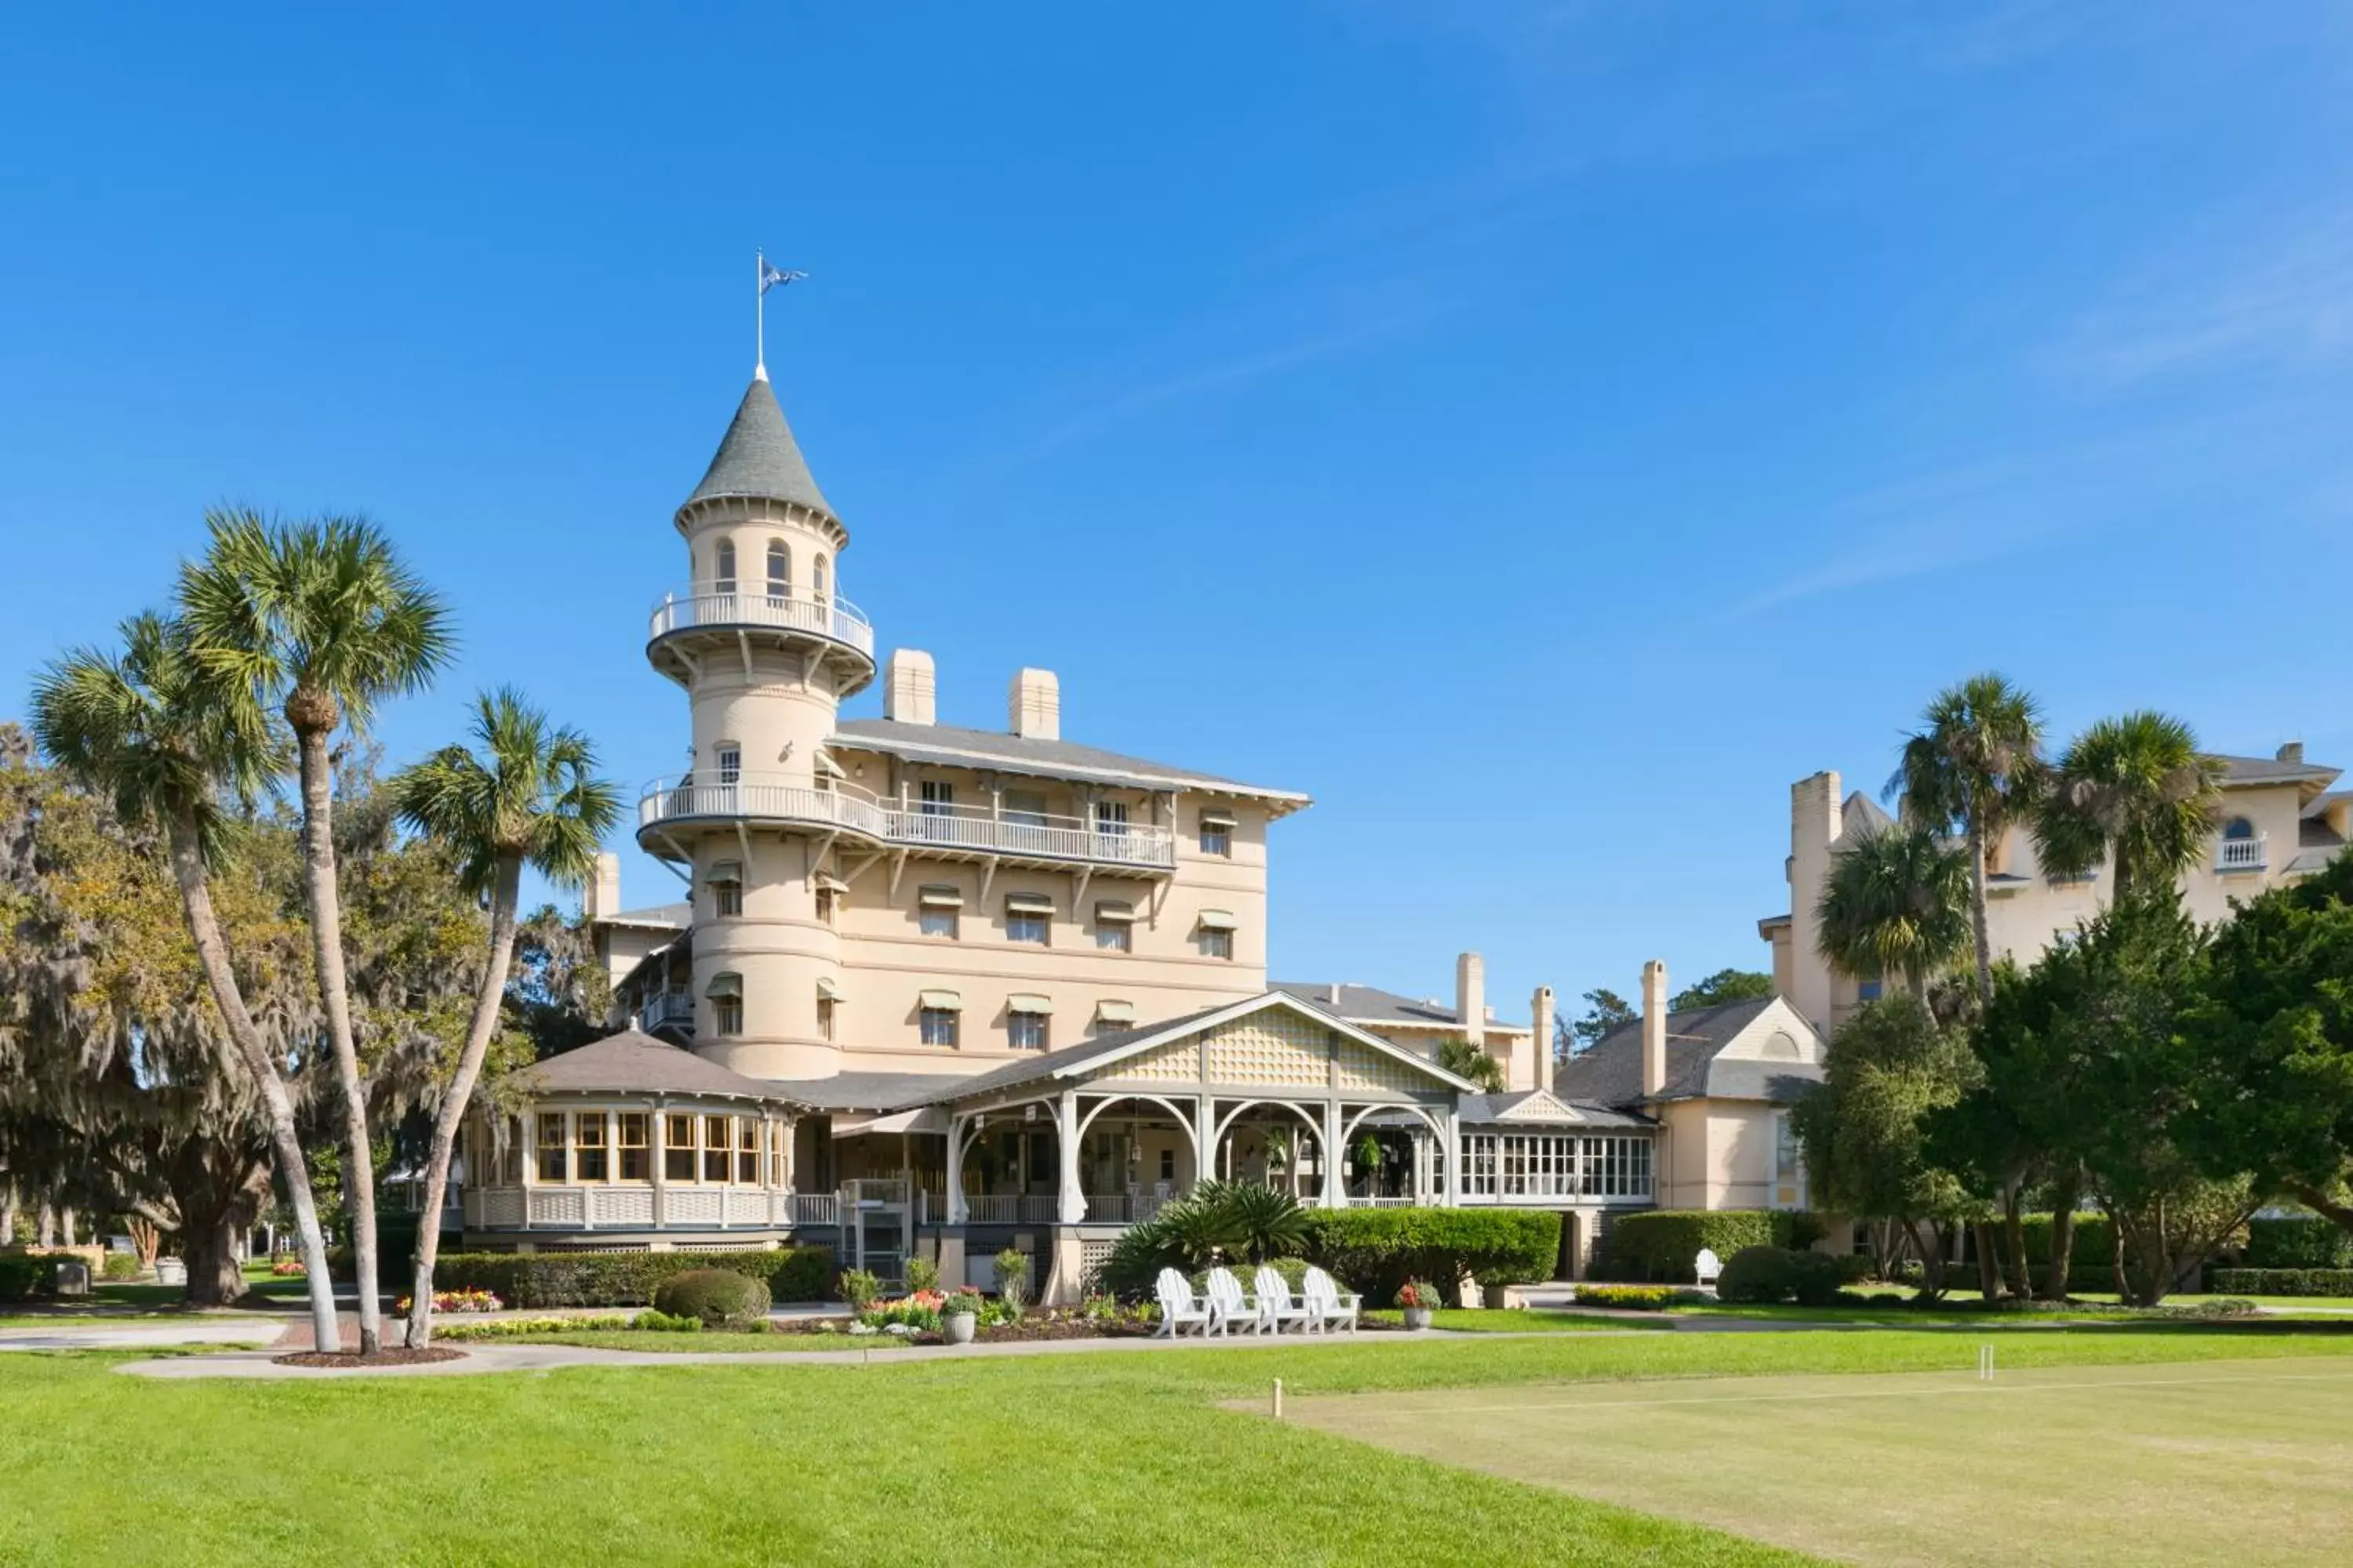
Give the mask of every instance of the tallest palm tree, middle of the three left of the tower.
<svg viewBox="0 0 2353 1568">
<path fill-rule="evenodd" d="M 205 663 L 256 703 L 278 701 L 294 731 L 311 957 L 344 1091 L 344 1192 L 360 1279 L 360 1349 L 374 1354 L 381 1345 L 374 1145 L 367 1135 L 367 1084 L 351 1037 L 327 743 L 346 724 L 365 729 L 384 698 L 433 679 L 454 649 L 449 611 L 369 522 L 318 517 L 273 524 L 254 512 L 214 510 L 205 515 L 205 527 L 212 529 L 212 548 L 179 574 L 181 616 Z"/>
</svg>

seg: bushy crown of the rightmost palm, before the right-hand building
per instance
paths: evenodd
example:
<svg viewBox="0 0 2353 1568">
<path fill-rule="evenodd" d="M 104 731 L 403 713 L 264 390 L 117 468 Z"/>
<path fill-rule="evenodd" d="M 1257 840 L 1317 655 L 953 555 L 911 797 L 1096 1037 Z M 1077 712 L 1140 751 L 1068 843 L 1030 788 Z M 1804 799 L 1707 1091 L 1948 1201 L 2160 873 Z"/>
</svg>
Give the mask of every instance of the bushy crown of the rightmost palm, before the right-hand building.
<svg viewBox="0 0 2353 1568">
<path fill-rule="evenodd" d="M 2179 884 L 2207 853 L 2221 816 L 2221 762 L 2162 712 L 2101 719 L 2068 743 L 2035 818 L 2035 856 L 2052 879 L 2082 877 L 2115 853 L 2115 898 Z"/>
</svg>

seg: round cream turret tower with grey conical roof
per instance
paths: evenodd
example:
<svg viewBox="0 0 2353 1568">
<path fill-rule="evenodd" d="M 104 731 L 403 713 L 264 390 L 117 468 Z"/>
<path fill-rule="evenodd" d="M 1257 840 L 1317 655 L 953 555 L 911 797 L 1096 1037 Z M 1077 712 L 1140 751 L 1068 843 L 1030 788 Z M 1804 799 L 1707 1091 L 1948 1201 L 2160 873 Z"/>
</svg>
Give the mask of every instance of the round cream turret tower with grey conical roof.
<svg viewBox="0 0 2353 1568">
<path fill-rule="evenodd" d="M 831 1077 L 840 886 L 824 846 L 856 802 L 824 748 L 875 677 L 873 628 L 840 595 L 849 529 L 765 369 L 675 524 L 687 585 L 654 607 L 645 656 L 687 689 L 694 748 L 638 802 L 638 844 L 694 879 L 694 1048 L 751 1077 Z"/>
</svg>

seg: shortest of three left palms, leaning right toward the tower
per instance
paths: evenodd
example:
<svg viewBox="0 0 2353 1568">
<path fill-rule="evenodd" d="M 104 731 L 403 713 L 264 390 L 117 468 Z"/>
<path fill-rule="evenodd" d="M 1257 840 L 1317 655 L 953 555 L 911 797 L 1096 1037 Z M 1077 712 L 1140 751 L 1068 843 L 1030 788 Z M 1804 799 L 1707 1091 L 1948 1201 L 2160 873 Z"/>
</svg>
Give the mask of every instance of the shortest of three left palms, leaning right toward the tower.
<svg viewBox="0 0 2353 1568">
<path fill-rule="evenodd" d="M 449 1157 L 466 1119 L 466 1100 L 482 1074 L 482 1056 L 499 1027 L 506 973 L 515 957 L 515 905 L 522 867 L 558 886 L 579 886 L 595 867 L 598 842 L 621 818 L 621 795 L 595 776 L 595 748 L 576 729 L 553 729 L 544 712 L 513 689 L 475 698 L 473 738 L 480 752 L 445 745 L 393 776 L 393 806 L 419 832 L 449 842 L 461 856 L 466 891 L 489 900 L 489 964 L 473 1001 L 466 1046 L 433 1114 L 426 1164 L 426 1222 L 416 1229 L 416 1286 L 409 1293 L 412 1347 L 433 1338 L 433 1260 L 440 1253 L 440 1206 L 449 1192 Z"/>
</svg>

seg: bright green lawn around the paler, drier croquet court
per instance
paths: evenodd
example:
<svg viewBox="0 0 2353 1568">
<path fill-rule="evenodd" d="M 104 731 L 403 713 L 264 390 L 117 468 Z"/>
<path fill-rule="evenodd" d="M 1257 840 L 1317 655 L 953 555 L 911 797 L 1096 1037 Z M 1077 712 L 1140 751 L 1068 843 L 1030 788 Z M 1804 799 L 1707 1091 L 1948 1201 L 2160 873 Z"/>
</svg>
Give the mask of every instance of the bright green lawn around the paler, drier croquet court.
<svg viewBox="0 0 2353 1568">
<path fill-rule="evenodd" d="M 2292 1354 L 2353 1354 L 2353 1333 L 2275 1324 L 2002 1340 L 2009 1371 Z M 264 1385 L 148 1382 L 115 1375 L 120 1356 L 12 1354 L 0 1356 L 0 1563 L 1795 1563 L 1807 1559 L 1219 1401 L 1257 1406 L 1271 1378 L 1320 1396 L 1951 1373 L 1972 1356 L 1974 1342 L 1951 1333 L 1365 1335 Z M 2082 1507 L 2061 1474 L 2038 1486 Z"/>
</svg>

